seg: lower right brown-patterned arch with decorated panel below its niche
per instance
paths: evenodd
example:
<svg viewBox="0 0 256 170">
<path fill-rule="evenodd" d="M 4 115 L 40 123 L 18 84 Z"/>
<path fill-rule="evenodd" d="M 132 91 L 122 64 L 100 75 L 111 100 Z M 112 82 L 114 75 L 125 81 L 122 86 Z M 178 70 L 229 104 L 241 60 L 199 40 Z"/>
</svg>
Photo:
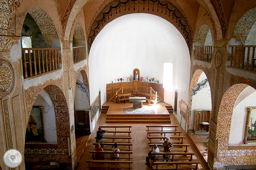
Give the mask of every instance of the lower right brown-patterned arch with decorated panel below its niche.
<svg viewBox="0 0 256 170">
<path fill-rule="evenodd" d="M 250 147 L 229 147 L 229 137 L 231 131 L 231 121 L 233 119 L 233 111 L 236 106 L 244 99 L 246 96 L 255 92 L 254 88 L 249 89 L 244 93 L 242 98 L 239 96 L 245 89 L 248 89 L 249 85 L 240 83 L 235 84 L 226 90 L 224 93 L 218 111 L 218 120 L 216 127 L 216 139 L 215 147 L 213 146 L 215 152 L 218 151 L 217 157 L 215 159 L 215 165 L 248 165 L 251 161 L 255 162 L 255 153 Z M 245 110 L 247 113 L 247 110 Z M 243 122 L 240 122 L 243 124 Z M 244 127 L 245 128 L 245 127 Z M 241 146 L 241 145 L 240 145 Z M 248 154 L 251 153 L 252 154 Z M 232 155 L 232 156 L 231 156 Z M 251 157 L 252 159 L 245 159 L 244 156 Z"/>
</svg>

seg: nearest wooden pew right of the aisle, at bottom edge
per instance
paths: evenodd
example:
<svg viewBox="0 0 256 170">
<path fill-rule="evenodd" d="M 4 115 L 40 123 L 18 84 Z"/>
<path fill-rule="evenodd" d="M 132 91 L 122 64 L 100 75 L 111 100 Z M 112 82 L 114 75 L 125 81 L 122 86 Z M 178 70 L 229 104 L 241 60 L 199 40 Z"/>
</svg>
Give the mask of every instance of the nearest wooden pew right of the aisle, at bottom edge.
<svg viewBox="0 0 256 170">
<path fill-rule="evenodd" d="M 154 162 L 154 170 L 198 170 L 198 161 L 178 161 L 178 162 Z"/>
</svg>

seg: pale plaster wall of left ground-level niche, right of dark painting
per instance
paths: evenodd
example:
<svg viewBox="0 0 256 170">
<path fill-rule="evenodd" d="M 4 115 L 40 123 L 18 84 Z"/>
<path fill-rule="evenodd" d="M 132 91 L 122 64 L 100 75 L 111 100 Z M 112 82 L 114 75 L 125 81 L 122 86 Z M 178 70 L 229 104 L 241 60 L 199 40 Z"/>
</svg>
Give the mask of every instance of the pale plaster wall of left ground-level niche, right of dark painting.
<svg viewBox="0 0 256 170">
<path fill-rule="evenodd" d="M 43 121 L 45 127 L 45 139 L 47 143 L 57 143 L 55 112 L 52 100 L 45 90 L 37 96 L 34 106 L 43 106 Z"/>
</svg>

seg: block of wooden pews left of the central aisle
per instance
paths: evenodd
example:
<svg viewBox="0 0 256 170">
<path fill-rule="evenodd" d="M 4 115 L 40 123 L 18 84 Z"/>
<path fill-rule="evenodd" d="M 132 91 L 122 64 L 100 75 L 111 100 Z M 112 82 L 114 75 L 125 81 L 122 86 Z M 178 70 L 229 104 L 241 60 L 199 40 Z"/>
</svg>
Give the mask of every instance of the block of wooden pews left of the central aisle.
<svg viewBox="0 0 256 170">
<path fill-rule="evenodd" d="M 94 148 L 90 151 L 90 160 L 87 160 L 89 170 L 93 168 L 125 168 L 130 170 L 133 165 L 133 152 L 132 152 L 132 140 L 131 140 L 131 126 L 101 126 L 103 130 L 108 130 L 104 134 L 104 143 L 100 143 L 103 146 L 104 151 L 95 151 L 96 143 L 93 143 Z M 120 152 L 112 151 L 114 144 L 118 144 Z M 94 155 L 96 153 L 103 153 L 103 160 L 96 160 Z M 119 154 L 118 160 L 113 160 L 113 154 Z"/>
</svg>

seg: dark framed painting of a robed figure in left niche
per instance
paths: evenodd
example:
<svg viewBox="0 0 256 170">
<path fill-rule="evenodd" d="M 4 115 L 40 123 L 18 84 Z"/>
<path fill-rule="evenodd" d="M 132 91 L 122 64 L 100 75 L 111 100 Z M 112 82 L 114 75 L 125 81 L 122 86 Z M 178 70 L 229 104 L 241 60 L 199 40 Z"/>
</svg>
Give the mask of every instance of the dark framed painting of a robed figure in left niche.
<svg viewBox="0 0 256 170">
<path fill-rule="evenodd" d="M 26 143 L 46 142 L 43 124 L 43 106 L 33 106 L 28 118 Z"/>
</svg>

